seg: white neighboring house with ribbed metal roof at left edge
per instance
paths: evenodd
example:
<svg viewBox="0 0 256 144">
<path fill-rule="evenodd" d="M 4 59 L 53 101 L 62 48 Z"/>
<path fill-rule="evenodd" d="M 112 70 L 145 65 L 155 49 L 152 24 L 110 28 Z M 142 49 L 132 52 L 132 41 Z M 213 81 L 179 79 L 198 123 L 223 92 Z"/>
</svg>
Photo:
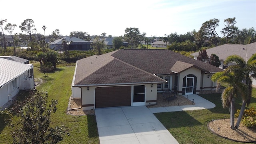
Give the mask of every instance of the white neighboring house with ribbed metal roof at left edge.
<svg viewBox="0 0 256 144">
<path fill-rule="evenodd" d="M 0 58 L 0 107 L 11 101 L 20 90 L 34 87 L 32 64 Z"/>
</svg>

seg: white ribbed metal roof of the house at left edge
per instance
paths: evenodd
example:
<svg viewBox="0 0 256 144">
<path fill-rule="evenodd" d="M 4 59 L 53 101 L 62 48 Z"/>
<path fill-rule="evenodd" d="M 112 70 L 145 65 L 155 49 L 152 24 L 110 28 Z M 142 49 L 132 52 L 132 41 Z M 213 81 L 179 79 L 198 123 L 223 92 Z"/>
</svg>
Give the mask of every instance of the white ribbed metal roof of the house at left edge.
<svg viewBox="0 0 256 144">
<path fill-rule="evenodd" d="M 33 68 L 32 64 L 23 64 L 0 58 L 0 87 L 14 80 L 14 78 L 17 78 L 31 68 Z"/>
</svg>

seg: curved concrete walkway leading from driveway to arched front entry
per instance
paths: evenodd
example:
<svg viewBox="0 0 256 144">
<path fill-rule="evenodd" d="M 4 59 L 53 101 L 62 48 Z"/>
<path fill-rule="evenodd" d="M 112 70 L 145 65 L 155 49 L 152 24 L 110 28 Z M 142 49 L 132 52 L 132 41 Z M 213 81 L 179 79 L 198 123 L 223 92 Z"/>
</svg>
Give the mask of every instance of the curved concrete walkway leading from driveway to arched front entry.
<svg viewBox="0 0 256 144">
<path fill-rule="evenodd" d="M 187 95 L 183 95 L 187 98 Z M 194 99 L 194 105 L 187 105 L 187 106 L 166 106 L 166 107 L 159 107 L 159 108 L 148 108 L 152 113 L 158 112 L 177 112 L 183 110 L 202 110 L 202 109 L 209 109 L 214 108 L 215 104 L 198 96 L 196 94 L 188 95 L 189 100 Z"/>
</svg>

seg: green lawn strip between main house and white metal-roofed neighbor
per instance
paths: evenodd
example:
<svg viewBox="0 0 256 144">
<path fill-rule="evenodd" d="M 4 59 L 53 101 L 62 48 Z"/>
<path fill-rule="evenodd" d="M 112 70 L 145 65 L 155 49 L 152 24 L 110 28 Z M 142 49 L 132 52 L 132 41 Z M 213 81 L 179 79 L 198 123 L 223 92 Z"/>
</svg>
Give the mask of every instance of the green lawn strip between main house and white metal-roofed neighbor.
<svg viewBox="0 0 256 144">
<path fill-rule="evenodd" d="M 51 115 L 52 126 L 64 125 L 70 136 L 64 136 L 60 144 L 98 144 L 99 136 L 95 116 L 70 116 L 66 114 L 68 100 L 71 96 L 71 82 L 74 75 L 75 66 L 58 66 L 57 70 L 49 73 L 44 78 L 44 74 L 34 67 L 34 77 L 42 78 L 43 84 L 38 86 L 38 90 L 47 91 L 49 100 L 58 100 L 58 110 Z M 13 121 L 18 118 L 14 117 Z M 1 124 L 0 143 L 12 144 L 12 128 Z"/>
</svg>

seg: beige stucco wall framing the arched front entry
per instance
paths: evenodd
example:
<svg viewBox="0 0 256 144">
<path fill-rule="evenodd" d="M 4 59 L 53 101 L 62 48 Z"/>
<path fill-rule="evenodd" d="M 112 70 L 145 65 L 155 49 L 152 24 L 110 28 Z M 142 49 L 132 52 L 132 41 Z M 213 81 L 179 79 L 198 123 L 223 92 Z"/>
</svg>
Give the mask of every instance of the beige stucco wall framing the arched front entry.
<svg viewBox="0 0 256 144">
<path fill-rule="evenodd" d="M 194 67 L 180 73 L 179 83 L 178 83 L 178 91 L 182 92 L 183 78 L 184 78 L 184 76 L 186 76 L 188 74 L 194 74 L 197 77 L 196 90 L 199 91 L 200 90 L 200 82 L 201 82 L 201 70 L 194 68 Z M 199 92 L 196 92 L 196 94 L 199 94 Z"/>
</svg>

